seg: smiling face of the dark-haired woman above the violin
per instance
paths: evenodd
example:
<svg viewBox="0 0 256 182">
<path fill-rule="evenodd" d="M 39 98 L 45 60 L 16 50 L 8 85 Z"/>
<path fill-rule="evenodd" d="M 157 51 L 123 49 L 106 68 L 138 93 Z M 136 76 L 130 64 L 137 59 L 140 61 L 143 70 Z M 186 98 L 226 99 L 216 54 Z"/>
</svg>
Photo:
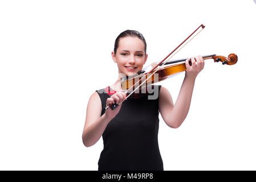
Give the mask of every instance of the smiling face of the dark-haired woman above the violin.
<svg viewBox="0 0 256 182">
<path fill-rule="evenodd" d="M 112 59 L 117 64 L 119 73 L 124 73 L 127 76 L 135 75 L 141 71 L 147 57 L 143 41 L 132 36 L 119 39 L 116 54 L 112 52 Z"/>
</svg>

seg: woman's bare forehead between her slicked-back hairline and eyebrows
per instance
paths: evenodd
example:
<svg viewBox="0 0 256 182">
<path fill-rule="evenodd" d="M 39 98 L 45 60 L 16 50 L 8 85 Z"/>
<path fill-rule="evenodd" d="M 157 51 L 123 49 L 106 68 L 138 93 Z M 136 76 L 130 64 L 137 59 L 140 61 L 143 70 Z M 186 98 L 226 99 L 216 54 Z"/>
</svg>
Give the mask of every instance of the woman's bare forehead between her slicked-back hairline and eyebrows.
<svg viewBox="0 0 256 182">
<path fill-rule="evenodd" d="M 136 36 L 125 36 L 124 38 L 119 39 L 118 49 L 128 51 L 144 51 L 145 45 L 144 42 Z"/>
</svg>

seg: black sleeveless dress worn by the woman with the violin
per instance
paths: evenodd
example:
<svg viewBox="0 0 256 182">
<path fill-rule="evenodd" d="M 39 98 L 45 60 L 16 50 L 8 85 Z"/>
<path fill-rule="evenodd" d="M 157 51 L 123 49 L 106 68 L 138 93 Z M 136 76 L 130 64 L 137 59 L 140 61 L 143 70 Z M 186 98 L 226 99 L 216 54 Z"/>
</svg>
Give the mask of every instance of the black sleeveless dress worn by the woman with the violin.
<svg viewBox="0 0 256 182">
<path fill-rule="evenodd" d="M 100 171 L 164 170 L 158 144 L 161 86 L 152 85 L 152 88 L 153 93 L 128 97 L 108 123 L 102 135 L 104 148 L 98 163 Z M 101 100 L 101 115 L 105 113 L 106 100 L 112 91 L 109 87 L 96 90 Z"/>
</svg>

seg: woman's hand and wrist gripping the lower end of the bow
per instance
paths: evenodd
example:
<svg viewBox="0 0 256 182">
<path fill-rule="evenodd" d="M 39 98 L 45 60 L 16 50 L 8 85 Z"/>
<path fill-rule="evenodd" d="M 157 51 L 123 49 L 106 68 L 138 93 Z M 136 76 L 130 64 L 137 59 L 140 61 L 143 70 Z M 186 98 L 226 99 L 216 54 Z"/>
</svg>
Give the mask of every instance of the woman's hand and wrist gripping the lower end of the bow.
<svg viewBox="0 0 256 182">
<path fill-rule="evenodd" d="M 126 94 L 124 92 L 116 92 L 111 97 L 107 98 L 106 107 L 109 106 L 108 109 L 105 110 L 105 114 L 107 118 L 109 119 L 115 118 L 116 114 L 119 113 L 122 104 L 117 106 L 114 110 L 112 110 L 110 106 L 112 104 L 119 104 L 123 100 L 126 100 Z"/>
</svg>

